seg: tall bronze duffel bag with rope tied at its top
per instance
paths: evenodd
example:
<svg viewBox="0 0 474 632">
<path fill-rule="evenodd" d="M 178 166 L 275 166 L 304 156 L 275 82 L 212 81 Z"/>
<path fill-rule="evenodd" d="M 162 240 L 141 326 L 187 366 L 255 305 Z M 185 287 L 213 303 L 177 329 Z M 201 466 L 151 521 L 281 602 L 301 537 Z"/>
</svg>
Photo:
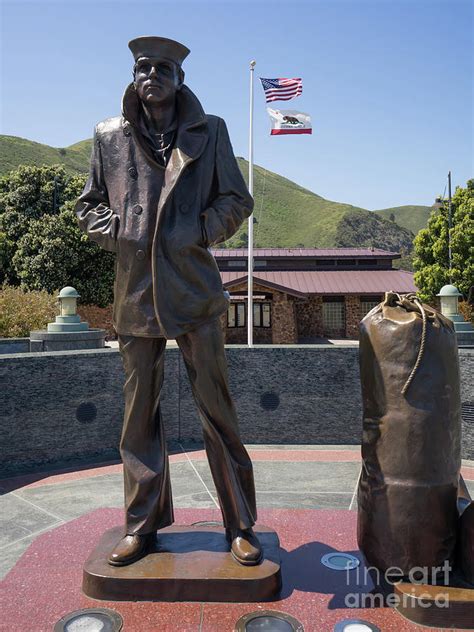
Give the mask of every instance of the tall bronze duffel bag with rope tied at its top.
<svg viewBox="0 0 474 632">
<path fill-rule="evenodd" d="M 461 403 L 450 320 L 388 292 L 360 323 L 358 543 L 380 570 L 454 560 Z"/>
</svg>

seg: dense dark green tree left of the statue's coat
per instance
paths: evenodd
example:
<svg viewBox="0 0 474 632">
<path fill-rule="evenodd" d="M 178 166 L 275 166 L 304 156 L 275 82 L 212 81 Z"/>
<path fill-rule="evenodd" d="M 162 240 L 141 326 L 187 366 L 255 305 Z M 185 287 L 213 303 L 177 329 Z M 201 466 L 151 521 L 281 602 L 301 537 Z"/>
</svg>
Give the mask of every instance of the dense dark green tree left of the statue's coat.
<svg viewBox="0 0 474 632">
<path fill-rule="evenodd" d="M 73 211 L 85 179 L 62 165 L 22 165 L 0 179 L 0 282 L 48 292 L 73 285 L 84 303 L 112 301 L 114 255 L 82 233 Z"/>
</svg>

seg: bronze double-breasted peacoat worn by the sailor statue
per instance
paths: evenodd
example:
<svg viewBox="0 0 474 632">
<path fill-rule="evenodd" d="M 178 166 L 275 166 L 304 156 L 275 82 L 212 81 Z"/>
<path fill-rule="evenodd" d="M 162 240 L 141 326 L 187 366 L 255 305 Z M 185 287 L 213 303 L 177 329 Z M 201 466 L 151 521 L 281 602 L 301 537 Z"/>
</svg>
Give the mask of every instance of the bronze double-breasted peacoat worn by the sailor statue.
<svg viewBox="0 0 474 632">
<path fill-rule="evenodd" d="M 209 246 L 231 237 L 253 209 L 225 122 L 183 86 L 166 168 L 140 131 L 140 101 L 125 91 L 123 116 L 96 126 L 91 169 L 76 205 L 79 224 L 117 253 L 119 334 L 176 338 L 226 311 Z"/>
</svg>

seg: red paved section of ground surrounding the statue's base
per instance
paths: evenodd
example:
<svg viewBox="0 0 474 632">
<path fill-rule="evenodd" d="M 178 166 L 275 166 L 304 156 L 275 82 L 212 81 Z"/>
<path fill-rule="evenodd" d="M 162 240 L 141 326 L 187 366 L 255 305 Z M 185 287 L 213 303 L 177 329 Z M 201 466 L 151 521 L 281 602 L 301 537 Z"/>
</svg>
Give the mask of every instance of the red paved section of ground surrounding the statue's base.
<svg viewBox="0 0 474 632">
<path fill-rule="evenodd" d="M 387 608 L 345 606 L 348 593 L 366 593 L 350 574 L 326 569 L 321 556 L 333 550 L 356 554 L 356 513 L 337 510 L 262 510 L 259 523 L 274 528 L 282 546 L 283 592 L 265 604 L 97 602 L 81 593 L 82 565 L 105 529 L 120 524 L 120 509 L 99 509 L 40 537 L 3 582 L 0 625 L 8 632 L 51 632 L 65 614 L 86 607 L 110 607 L 124 618 L 124 632 L 231 632 L 235 621 L 259 607 L 287 612 L 306 632 L 329 632 L 345 618 L 363 618 L 383 632 L 420 630 Z M 178 524 L 219 520 L 217 510 L 176 510 Z M 361 573 L 361 576 L 363 574 Z M 427 629 L 427 628 L 423 628 Z"/>
</svg>

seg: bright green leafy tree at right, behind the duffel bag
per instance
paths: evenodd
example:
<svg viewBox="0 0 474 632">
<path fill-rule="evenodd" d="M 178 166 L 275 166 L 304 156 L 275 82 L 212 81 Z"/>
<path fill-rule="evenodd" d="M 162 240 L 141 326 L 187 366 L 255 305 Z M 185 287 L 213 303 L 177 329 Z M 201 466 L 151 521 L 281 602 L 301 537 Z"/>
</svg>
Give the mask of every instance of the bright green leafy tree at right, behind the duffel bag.
<svg viewBox="0 0 474 632">
<path fill-rule="evenodd" d="M 415 238 L 414 281 L 424 301 L 433 302 L 443 285 L 452 283 L 471 299 L 474 279 L 474 180 L 458 187 L 451 208 L 451 278 L 448 254 L 448 204 L 433 211 L 428 226 Z"/>
</svg>

